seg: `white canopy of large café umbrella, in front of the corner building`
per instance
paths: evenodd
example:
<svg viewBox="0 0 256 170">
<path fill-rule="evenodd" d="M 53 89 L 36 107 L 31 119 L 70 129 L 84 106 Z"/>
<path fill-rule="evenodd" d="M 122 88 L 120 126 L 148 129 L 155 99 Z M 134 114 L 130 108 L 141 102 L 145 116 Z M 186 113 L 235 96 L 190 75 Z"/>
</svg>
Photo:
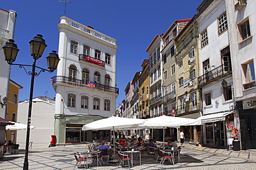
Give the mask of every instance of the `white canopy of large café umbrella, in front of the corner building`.
<svg viewBox="0 0 256 170">
<path fill-rule="evenodd" d="M 136 129 L 138 125 L 143 124 L 145 119 L 138 118 L 120 118 L 112 116 L 101 120 L 96 120 L 82 127 L 83 131 L 87 130 L 108 130 L 108 129 Z"/>
</svg>

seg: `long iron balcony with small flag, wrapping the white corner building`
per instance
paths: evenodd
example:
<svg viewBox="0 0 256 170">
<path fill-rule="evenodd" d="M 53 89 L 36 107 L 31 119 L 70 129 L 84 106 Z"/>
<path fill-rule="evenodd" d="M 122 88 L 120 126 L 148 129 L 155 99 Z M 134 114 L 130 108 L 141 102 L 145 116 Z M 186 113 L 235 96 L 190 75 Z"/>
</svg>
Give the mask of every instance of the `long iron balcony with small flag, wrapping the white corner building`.
<svg viewBox="0 0 256 170">
<path fill-rule="evenodd" d="M 111 87 L 108 85 L 102 85 L 100 83 L 95 83 L 95 87 L 89 87 L 87 85 L 86 81 L 78 80 L 76 78 L 69 78 L 66 76 L 54 76 L 53 77 L 53 85 L 56 85 L 56 83 L 63 83 L 66 85 L 74 85 L 77 87 L 88 87 L 88 88 L 94 88 L 94 89 L 99 89 L 104 92 L 110 92 L 110 93 L 116 93 L 119 94 L 119 89 L 116 87 Z"/>
</svg>

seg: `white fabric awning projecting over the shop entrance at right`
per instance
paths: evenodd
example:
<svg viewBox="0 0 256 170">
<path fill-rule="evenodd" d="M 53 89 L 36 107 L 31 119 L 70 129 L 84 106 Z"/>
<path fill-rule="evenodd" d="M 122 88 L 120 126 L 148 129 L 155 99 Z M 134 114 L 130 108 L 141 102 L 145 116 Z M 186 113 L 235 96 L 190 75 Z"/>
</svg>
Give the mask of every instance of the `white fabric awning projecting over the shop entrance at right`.
<svg viewBox="0 0 256 170">
<path fill-rule="evenodd" d="M 234 112 L 235 111 L 232 110 L 232 111 L 225 111 L 219 114 L 208 114 L 208 115 L 199 117 L 199 119 L 201 120 L 201 123 L 214 123 L 214 122 L 226 120 L 226 116 L 228 116 L 229 114 L 233 114 Z"/>
</svg>

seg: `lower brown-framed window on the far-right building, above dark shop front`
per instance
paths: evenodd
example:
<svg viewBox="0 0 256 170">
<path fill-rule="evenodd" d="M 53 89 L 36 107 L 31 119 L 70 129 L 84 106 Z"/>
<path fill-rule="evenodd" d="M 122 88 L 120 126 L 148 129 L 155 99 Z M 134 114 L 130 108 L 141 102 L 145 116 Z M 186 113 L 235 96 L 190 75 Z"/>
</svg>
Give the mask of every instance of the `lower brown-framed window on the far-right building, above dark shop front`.
<svg viewBox="0 0 256 170">
<path fill-rule="evenodd" d="M 253 61 L 241 65 L 244 72 L 244 89 L 255 87 L 255 68 Z"/>
</svg>

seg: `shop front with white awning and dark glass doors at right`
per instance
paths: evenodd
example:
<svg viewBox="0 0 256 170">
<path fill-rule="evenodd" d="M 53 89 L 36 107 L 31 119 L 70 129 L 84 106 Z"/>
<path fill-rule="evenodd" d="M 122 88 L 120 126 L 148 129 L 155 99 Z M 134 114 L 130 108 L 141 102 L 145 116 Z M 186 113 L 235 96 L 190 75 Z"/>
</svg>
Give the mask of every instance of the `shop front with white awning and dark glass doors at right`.
<svg viewBox="0 0 256 170">
<path fill-rule="evenodd" d="M 203 145 L 228 147 L 228 139 L 235 138 L 234 111 L 201 116 L 203 123 Z"/>
</svg>

